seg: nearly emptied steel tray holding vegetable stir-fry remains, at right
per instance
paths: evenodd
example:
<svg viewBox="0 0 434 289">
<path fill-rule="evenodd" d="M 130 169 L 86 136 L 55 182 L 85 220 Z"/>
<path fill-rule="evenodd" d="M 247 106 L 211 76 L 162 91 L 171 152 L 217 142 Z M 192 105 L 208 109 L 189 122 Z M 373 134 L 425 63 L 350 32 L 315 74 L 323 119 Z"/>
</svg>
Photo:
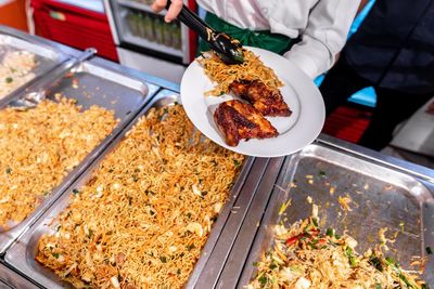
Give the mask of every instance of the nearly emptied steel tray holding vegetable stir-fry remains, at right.
<svg viewBox="0 0 434 289">
<path fill-rule="evenodd" d="M 395 241 L 386 241 L 386 255 L 407 270 L 418 268 L 410 266 L 412 257 L 427 258 L 422 278 L 434 285 L 434 257 L 426 249 L 434 248 L 434 183 L 318 142 L 288 157 L 269 189 L 271 197 L 267 191 L 256 194 L 268 206 L 264 215 L 248 212 L 216 288 L 248 285 L 254 263 L 273 248 L 273 226 L 311 216 L 312 203 L 319 207 L 320 228 L 347 229 L 360 253 L 380 245 L 380 231 L 387 228 L 384 236 Z M 350 198 L 349 208 L 342 207 L 340 197 Z"/>
</svg>

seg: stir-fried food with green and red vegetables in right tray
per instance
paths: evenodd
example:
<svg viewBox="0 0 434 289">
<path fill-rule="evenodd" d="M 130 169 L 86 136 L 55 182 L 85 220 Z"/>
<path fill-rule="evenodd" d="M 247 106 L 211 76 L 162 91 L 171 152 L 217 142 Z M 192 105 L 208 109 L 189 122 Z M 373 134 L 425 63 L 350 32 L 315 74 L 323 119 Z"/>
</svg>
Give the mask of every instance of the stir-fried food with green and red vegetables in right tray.
<svg viewBox="0 0 434 289">
<path fill-rule="evenodd" d="M 356 246 L 333 228 L 321 232 L 317 216 L 290 228 L 277 225 L 273 249 L 255 263 L 257 273 L 247 288 L 427 288 L 392 258 L 371 250 L 358 254 Z"/>
</svg>

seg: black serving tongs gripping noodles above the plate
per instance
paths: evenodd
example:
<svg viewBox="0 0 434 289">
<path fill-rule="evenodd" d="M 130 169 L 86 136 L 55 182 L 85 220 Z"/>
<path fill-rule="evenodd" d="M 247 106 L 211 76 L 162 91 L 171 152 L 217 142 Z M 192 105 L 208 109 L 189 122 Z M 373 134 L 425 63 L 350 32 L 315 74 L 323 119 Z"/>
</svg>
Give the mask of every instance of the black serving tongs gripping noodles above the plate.
<svg viewBox="0 0 434 289">
<path fill-rule="evenodd" d="M 171 1 L 167 1 L 166 9 Z M 226 64 L 242 64 L 244 54 L 240 41 L 231 38 L 225 32 L 219 32 L 210 28 L 199 15 L 192 12 L 186 4 L 178 15 L 178 19 L 196 31 L 204 39 Z"/>
</svg>

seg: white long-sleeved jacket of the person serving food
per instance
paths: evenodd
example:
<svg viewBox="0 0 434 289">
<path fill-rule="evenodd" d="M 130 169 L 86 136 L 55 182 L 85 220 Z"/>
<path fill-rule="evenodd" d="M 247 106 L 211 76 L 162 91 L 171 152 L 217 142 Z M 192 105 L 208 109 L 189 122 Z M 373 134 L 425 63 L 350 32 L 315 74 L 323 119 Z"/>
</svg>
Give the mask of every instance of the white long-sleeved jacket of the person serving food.
<svg viewBox="0 0 434 289">
<path fill-rule="evenodd" d="M 302 36 L 284 54 L 315 78 L 327 71 L 345 44 L 360 0 L 197 0 L 226 22 L 251 30 Z"/>
</svg>

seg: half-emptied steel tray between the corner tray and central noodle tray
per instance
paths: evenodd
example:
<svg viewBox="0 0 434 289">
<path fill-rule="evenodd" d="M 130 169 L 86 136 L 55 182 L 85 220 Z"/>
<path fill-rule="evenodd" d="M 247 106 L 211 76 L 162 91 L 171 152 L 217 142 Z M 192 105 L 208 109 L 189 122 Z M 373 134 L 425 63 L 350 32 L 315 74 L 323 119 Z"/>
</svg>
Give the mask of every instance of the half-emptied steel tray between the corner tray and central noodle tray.
<svg viewBox="0 0 434 289">
<path fill-rule="evenodd" d="M 108 134 L 81 162 L 75 167 L 51 191 L 51 194 L 41 201 L 36 210 L 24 221 L 11 228 L 0 228 L 0 253 L 4 253 L 8 247 L 22 235 L 29 225 L 77 179 L 94 158 L 113 141 L 140 111 L 148 101 L 155 94 L 157 87 L 146 83 L 144 79 L 130 78 L 124 68 L 110 62 L 94 58 L 84 62 L 65 76 L 60 76 L 50 88 L 46 88 L 46 97 L 56 101 L 56 94 L 61 93 L 67 98 L 77 101 L 77 105 L 84 109 L 92 105 L 114 110 L 115 118 L 119 120 L 111 134 Z M 33 92 L 29 92 L 30 94 Z M 5 106 L 14 106 L 22 95 L 12 98 Z M 1 106 L 0 106 L 1 107 Z"/>
</svg>

